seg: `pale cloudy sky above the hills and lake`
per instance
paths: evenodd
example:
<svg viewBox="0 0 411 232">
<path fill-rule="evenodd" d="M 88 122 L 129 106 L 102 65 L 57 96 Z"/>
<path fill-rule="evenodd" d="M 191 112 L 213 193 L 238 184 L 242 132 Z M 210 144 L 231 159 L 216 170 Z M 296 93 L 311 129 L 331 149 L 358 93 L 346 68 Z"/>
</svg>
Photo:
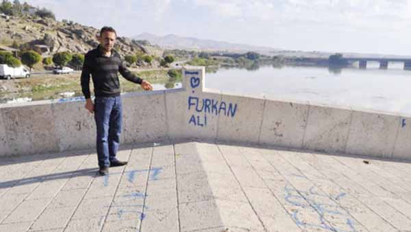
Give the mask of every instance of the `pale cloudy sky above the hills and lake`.
<svg viewBox="0 0 411 232">
<path fill-rule="evenodd" d="M 21 0 L 23 2 L 23 0 Z M 176 34 L 277 49 L 411 56 L 411 0 L 29 0 L 119 36 Z"/>
</svg>

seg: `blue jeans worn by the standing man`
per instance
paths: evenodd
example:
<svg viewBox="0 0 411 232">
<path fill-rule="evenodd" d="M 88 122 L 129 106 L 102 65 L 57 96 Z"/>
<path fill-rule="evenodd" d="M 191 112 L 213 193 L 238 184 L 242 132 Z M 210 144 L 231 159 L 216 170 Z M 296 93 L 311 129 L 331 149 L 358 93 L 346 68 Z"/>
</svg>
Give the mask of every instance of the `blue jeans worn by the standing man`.
<svg viewBox="0 0 411 232">
<path fill-rule="evenodd" d="M 110 161 L 116 161 L 116 153 L 120 145 L 122 114 L 120 96 L 95 98 L 99 167 L 110 167 Z"/>
</svg>

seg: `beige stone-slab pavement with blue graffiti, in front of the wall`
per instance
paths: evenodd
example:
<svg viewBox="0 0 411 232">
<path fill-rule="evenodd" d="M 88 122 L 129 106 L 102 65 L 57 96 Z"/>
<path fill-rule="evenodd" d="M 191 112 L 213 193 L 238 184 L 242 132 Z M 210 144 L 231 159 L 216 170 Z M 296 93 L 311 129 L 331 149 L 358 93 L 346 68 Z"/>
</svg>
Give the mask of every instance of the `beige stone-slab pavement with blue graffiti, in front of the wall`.
<svg viewBox="0 0 411 232">
<path fill-rule="evenodd" d="M 411 231 L 411 164 L 215 143 L 0 159 L 0 231 Z"/>
</svg>

